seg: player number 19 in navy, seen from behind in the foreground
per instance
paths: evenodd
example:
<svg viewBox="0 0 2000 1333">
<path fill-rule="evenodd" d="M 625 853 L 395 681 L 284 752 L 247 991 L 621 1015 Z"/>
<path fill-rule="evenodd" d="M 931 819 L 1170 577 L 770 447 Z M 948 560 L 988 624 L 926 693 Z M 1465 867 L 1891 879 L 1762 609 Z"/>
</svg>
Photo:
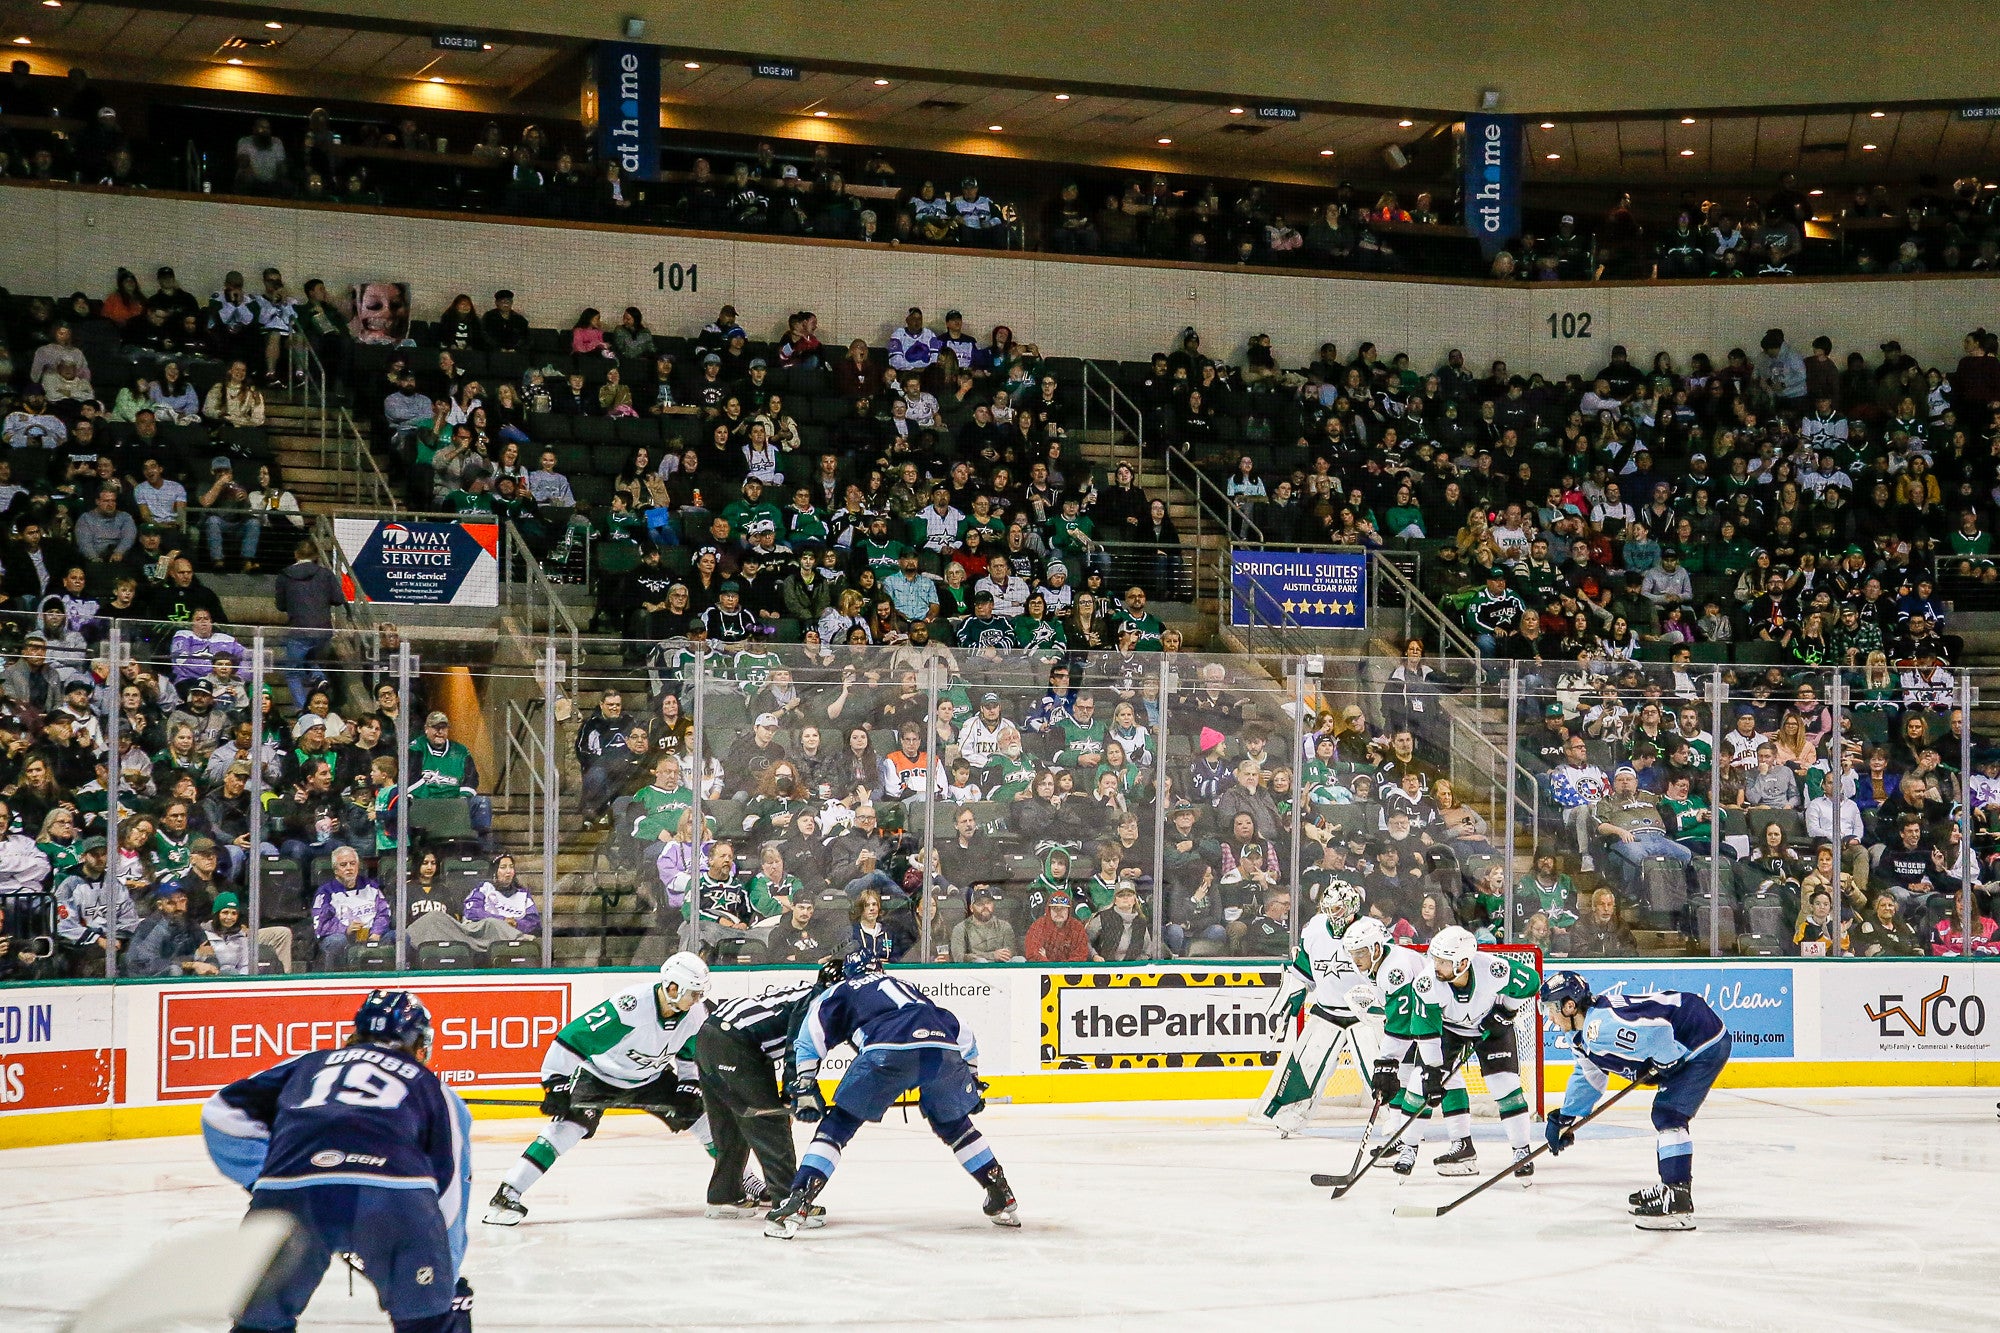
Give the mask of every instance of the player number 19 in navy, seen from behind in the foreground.
<svg viewBox="0 0 2000 1333">
<path fill-rule="evenodd" d="M 458 1277 L 472 1191 L 472 1113 L 426 1067 L 430 1013 L 370 991 L 354 1035 L 238 1079 L 202 1107 L 202 1137 L 250 1211 L 298 1231 L 234 1333 L 292 1333 L 326 1265 L 350 1253 L 396 1333 L 470 1333 Z"/>
</svg>

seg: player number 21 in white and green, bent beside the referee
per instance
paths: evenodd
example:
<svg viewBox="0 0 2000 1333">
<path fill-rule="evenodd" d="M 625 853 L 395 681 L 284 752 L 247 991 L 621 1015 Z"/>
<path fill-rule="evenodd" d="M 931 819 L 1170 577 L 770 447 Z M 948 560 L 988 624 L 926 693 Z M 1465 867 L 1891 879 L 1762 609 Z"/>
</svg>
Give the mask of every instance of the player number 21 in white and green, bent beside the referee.
<svg viewBox="0 0 2000 1333">
<path fill-rule="evenodd" d="M 558 1157 L 598 1133 L 608 1109 L 646 1111 L 668 1129 L 690 1129 L 706 1143 L 690 1049 L 708 1021 L 706 991 L 708 965 L 692 953 L 676 953 L 660 965 L 658 981 L 620 991 L 556 1033 L 542 1057 L 548 1129 L 506 1173 L 484 1221 L 512 1227 L 526 1217 L 520 1197 Z"/>
</svg>

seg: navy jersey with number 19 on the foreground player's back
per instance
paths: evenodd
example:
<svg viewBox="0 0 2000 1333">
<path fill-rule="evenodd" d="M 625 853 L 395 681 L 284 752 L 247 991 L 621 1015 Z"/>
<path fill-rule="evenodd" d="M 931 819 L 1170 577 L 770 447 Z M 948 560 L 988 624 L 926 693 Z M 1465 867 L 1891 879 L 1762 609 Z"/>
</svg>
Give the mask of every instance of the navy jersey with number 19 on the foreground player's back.
<svg viewBox="0 0 2000 1333">
<path fill-rule="evenodd" d="M 308 1051 L 230 1083 L 202 1107 L 222 1175 L 248 1189 L 372 1185 L 438 1199 L 464 1251 L 472 1113 L 400 1049 Z"/>
</svg>

